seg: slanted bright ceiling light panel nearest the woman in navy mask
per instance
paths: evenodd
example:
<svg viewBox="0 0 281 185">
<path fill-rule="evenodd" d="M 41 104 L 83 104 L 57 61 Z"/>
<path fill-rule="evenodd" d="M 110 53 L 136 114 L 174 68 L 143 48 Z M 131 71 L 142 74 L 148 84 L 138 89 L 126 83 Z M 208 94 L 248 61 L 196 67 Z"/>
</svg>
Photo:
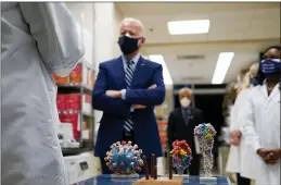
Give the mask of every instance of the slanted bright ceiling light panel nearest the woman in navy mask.
<svg viewBox="0 0 281 185">
<path fill-rule="evenodd" d="M 212 79 L 212 84 L 222 84 L 233 57 L 234 57 L 234 52 L 219 53 L 216 70 L 214 72 L 214 76 Z"/>
</svg>

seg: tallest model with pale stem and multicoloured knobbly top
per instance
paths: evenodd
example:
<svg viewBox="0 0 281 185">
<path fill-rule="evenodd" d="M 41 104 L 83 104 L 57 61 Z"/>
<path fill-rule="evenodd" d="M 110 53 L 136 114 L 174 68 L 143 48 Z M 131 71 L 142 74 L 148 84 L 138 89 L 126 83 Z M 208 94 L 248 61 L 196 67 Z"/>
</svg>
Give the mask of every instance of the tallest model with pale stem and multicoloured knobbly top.
<svg viewBox="0 0 281 185">
<path fill-rule="evenodd" d="M 200 149 L 203 153 L 204 160 L 204 176 L 200 177 L 200 182 L 216 182 L 217 178 L 212 175 L 213 170 L 213 146 L 214 136 L 216 135 L 216 130 L 209 123 L 203 123 L 194 128 L 194 136 L 199 140 Z"/>
</svg>

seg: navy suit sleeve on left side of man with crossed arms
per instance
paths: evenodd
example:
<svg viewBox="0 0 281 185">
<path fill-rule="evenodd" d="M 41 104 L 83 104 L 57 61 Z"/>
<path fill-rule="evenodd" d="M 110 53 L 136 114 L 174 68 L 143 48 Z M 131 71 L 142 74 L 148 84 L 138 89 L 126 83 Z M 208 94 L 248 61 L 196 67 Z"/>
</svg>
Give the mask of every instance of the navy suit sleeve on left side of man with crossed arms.
<svg viewBox="0 0 281 185">
<path fill-rule="evenodd" d="M 116 114 L 120 118 L 128 118 L 130 103 L 122 99 L 114 99 L 105 95 L 107 90 L 107 76 L 105 67 L 100 64 L 99 74 L 92 92 L 92 108 L 106 113 Z"/>
</svg>

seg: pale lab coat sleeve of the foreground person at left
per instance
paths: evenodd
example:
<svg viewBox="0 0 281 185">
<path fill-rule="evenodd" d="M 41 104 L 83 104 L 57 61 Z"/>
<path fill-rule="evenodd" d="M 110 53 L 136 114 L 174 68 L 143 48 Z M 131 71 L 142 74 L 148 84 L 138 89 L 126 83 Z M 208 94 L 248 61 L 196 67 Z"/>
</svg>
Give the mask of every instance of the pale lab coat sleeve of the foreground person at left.
<svg viewBox="0 0 281 185">
<path fill-rule="evenodd" d="M 85 50 L 65 3 L 23 2 L 20 7 L 44 65 L 59 76 L 67 76 Z"/>
</svg>

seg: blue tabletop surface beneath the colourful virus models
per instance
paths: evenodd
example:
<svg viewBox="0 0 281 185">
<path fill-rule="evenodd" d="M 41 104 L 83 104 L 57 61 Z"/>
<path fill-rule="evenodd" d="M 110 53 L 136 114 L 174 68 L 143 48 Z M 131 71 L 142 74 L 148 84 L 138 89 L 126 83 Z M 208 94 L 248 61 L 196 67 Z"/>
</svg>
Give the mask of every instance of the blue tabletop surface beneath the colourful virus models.
<svg viewBox="0 0 281 185">
<path fill-rule="evenodd" d="M 143 176 L 140 175 L 139 177 Z M 226 176 L 216 176 L 216 182 L 200 182 L 199 176 L 188 176 L 184 177 L 183 185 L 231 185 Z M 138 178 L 113 178 L 111 175 L 99 175 L 74 185 L 132 185 L 136 181 Z"/>
</svg>

